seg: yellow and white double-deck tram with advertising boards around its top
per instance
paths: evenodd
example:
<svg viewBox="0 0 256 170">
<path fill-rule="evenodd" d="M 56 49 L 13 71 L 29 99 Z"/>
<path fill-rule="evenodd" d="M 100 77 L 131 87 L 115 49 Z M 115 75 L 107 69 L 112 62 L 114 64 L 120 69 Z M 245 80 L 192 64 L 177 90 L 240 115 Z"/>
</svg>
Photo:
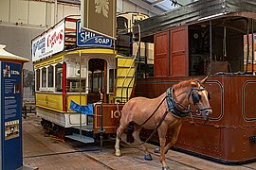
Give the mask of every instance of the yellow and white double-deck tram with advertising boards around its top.
<svg viewBox="0 0 256 170">
<path fill-rule="evenodd" d="M 83 143 L 116 133 L 135 82 L 138 47 L 127 28 L 145 18 L 119 14 L 118 31 L 125 30 L 116 42 L 82 29 L 80 16 L 65 17 L 32 40 L 36 112 L 47 131 Z"/>
</svg>

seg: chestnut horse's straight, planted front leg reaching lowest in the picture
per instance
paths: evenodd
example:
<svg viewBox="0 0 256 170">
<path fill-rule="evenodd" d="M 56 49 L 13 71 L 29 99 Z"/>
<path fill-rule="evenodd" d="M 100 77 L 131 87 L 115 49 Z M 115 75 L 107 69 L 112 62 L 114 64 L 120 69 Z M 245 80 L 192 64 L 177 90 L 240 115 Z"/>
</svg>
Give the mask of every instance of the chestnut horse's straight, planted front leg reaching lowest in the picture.
<svg viewBox="0 0 256 170">
<path fill-rule="evenodd" d="M 162 170 L 169 170 L 170 167 L 167 165 L 165 161 L 165 143 L 166 143 L 166 133 L 167 133 L 168 126 L 162 125 L 158 128 L 158 136 L 160 142 L 160 162 L 162 163 Z"/>
</svg>

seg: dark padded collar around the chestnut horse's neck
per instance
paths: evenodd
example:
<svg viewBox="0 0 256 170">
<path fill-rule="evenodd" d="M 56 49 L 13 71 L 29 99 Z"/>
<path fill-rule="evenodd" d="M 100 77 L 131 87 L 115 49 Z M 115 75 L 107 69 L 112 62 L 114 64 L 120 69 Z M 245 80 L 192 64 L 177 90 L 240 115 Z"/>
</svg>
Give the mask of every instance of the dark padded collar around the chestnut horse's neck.
<svg viewBox="0 0 256 170">
<path fill-rule="evenodd" d="M 190 111 L 187 110 L 184 106 L 179 104 L 178 102 L 175 101 L 174 99 L 174 89 L 173 88 L 168 88 L 166 91 L 166 102 L 168 106 L 168 110 L 175 116 L 175 117 L 186 117 L 189 115 Z M 177 105 L 181 106 L 182 108 L 186 110 L 179 110 L 177 108 Z"/>
</svg>

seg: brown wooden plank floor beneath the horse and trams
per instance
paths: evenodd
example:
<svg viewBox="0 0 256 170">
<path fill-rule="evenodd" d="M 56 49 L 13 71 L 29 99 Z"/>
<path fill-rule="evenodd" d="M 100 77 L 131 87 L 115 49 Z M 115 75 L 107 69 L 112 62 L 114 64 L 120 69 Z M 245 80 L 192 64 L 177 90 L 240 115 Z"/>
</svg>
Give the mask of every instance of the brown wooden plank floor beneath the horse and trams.
<svg viewBox="0 0 256 170">
<path fill-rule="evenodd" d="M 121 145 L 121 157 L 114 154 L 115 141 L 109 139 L 100 143 L 82 144 L 66 139 L 60 141 L 47 135 L 40 125 L 40 119 L 34 114 L 27 114 L 23 119 L 24 165 L 37 167 L 39 170 L 159 170 L 161 164 L 154 154 L 155 145 L 147 144 L 153 161 L 144 161 L 140 149 Z M 166 155 L 171 169 L 239 169 L 256 170 L 256 162 L 243 165 L 224 165 L 213 161 L 196 158 L 171 150 Z"/>
</svg>

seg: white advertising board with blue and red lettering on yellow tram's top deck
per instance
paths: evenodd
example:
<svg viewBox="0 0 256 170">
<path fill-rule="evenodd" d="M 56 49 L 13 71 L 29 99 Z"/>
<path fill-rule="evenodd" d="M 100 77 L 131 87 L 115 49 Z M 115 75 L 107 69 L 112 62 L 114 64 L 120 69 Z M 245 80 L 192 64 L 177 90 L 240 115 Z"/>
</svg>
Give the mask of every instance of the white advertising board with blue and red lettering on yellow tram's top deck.
<svg viewBox="0 0 256 170">
<path fill-rule="evenodd" d="M 64 22 L 32 41 L 32 61 L 64 50 Z"/>
</svg>

